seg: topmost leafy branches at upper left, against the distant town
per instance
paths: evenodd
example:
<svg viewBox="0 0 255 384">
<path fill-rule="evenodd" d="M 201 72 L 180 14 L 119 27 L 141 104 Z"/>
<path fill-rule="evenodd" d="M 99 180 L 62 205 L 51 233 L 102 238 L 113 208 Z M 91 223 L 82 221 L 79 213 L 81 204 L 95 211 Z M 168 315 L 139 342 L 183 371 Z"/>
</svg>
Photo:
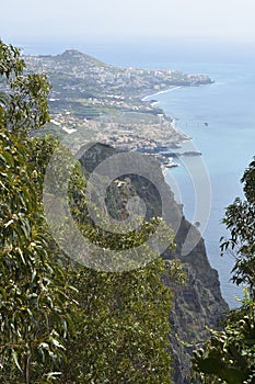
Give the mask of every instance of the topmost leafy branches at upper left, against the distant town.
<svg viewBox="0 0 255 384">
<path fill-rule="evenodd" d="M 44 75 L 23 75 L 25 63 L 18 48 L 1 43 L 0 92 L 1 124 L 8 131 L 24 133 L 39 128 L 49 121 L 47 95 L 49 84 Z"/>
</svg>

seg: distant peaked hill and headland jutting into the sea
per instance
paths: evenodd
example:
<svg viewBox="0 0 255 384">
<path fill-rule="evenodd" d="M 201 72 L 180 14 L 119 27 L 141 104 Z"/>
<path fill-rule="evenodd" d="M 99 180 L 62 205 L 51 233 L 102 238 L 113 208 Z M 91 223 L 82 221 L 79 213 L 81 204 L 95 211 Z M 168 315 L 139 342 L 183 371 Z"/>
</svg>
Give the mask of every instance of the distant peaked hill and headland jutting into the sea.
<svg viewBox="0 0 255 384">
<path fill-rule="evenodd" d="M 46 72 L 53 86 L 62 86 L 62 90 L 71 88 L 79 97 L 82 90 L 97 97 L 105 93 L 138 97 L 176 86 L 189 87 L 212 82 L 205 75 L 186 75 L 171 69 L 116 67 L 76 49 L 65 50 L 61 55 L 24 58 L 28 69 Z"/>
</svg>

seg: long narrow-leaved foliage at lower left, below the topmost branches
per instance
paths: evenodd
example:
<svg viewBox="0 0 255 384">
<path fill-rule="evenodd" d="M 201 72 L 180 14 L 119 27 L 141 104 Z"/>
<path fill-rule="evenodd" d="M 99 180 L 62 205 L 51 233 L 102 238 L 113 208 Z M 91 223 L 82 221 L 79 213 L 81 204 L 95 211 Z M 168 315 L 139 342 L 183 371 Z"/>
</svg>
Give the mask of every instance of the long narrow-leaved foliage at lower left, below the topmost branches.
<svg viewBox="0 0 255 384">
<path fill-rule="evenodd" d="M 43 383 L 62 359 L 68 280 L 30 177 L 31 148 L 4 128 L 0 136 L 0 377 L 5 383 L 43 377 Z"/>
</svg>

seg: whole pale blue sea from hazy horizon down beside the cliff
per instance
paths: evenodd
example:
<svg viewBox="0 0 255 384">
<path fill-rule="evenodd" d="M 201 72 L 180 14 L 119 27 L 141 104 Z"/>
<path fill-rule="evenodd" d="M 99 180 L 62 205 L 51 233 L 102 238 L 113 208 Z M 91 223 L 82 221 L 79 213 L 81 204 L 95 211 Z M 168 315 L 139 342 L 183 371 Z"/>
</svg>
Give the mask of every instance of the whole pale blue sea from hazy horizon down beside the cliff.
<svg viewBox="0 0 255 384">
<path fill-rule="evenodd" d="M 21 44 L 22 45 L 22 44 Z M 73 48 L 67 43 L 55 46 L 23 45 L 25 53 L 57 54 Z M 170 68 L 187 74 L 205 74 L 216 82 L 211 86 L 181 88 L 153 95 L 164 112 L 176 118 L 176 127 L 194 138 L 197 150 L 208 169 L 212 190 L 212 202 L 208 226 L 204 233 L 210 263 L 219 272 L 223 297 L 231 307 L 236 306 L 234 296 L 242 290 L 229 282 L 234 259 L 220 257 L 219 239 L 228 233 L 220 224 L 224 207 L 234 197 L 242 196 L 240 179 L 255 156 L 255 56 L 248 48 L 199 44 L 151 44 L 139 45 L 78 45 L 83 53 L 91 54 L 108 64 L 141 67 Z M 206 124 L 205 124 L 206 123 Z M 184 148 L 188 150 L 187 142 Z M 197 158 L 187 159 L 196 171 Z M 194 168 L 193 168 L 194 167 Z M 195 193 L 185 167 L 167 170 L 178 189 L 178 199 L 184 204 L 186 217 L 194 222 Z M 198 202 L 199 203 L 199 202 Z"/>
</svg>

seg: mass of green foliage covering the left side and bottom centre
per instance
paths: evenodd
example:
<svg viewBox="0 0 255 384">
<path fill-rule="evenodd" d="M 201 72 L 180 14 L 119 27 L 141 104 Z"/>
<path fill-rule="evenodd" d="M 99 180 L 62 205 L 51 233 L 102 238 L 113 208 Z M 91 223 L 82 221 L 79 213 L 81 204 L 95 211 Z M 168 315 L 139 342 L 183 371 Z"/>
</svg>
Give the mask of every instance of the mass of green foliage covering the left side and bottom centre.
<svg viewBox="0 0 255 384">
<path fill-rule="evenodd" d="M 182 280 L 179 263 L 154 255 L 139 270 L 106 273 L 63 255 L 42 199 L 59 143 L 30 135 L 48 121 L 49 84 L 24 69 L 19 50 L 0 41 L 0 382 L 171 383 L 172 291 L 163 280 Z M 85 183 L 78 165 L 71 213 L 91 241 L 123 248 L 153 230 L 153 223 L 144 223 L 124 244 L 104 233 L 98 237 L 86 215 Z"/>
</svg>

